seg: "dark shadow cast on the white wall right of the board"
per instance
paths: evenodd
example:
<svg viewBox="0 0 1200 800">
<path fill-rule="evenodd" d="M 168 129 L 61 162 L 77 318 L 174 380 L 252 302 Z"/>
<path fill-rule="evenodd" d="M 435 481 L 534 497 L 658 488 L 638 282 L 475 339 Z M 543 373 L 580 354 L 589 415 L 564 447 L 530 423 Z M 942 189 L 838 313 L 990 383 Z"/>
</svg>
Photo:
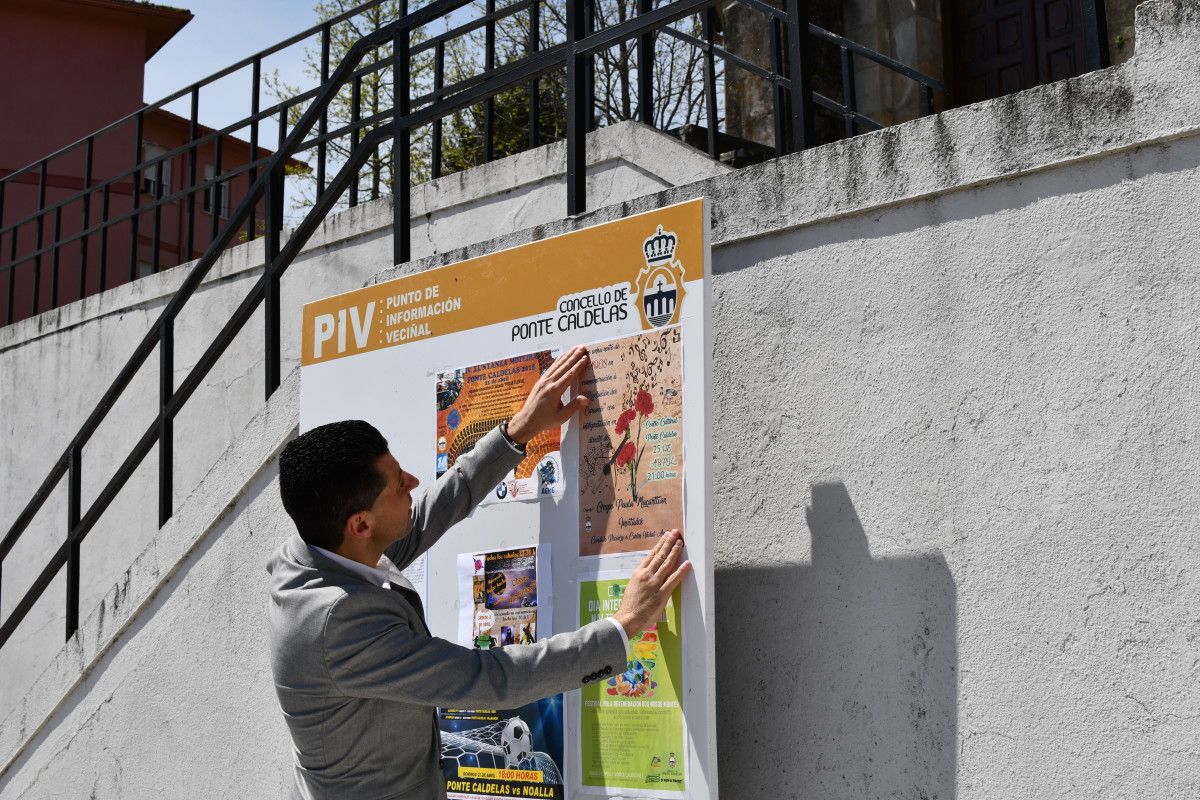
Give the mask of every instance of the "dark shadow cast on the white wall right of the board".
<svg viewBox="0 0 1200 800">
<path fill-rule="evenodd" d="M 842 483 L 814 485 L 805 517 L 811 564 L 716 571 L 721 796 L 952 800 L 944 559 L 872 559 Z"/>
</svg>

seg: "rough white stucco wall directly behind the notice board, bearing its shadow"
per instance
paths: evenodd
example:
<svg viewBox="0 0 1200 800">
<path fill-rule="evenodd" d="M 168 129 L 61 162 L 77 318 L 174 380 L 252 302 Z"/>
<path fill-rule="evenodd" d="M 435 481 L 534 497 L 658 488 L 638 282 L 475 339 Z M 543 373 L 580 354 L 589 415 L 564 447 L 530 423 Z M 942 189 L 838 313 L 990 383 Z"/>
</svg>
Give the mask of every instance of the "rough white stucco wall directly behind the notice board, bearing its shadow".
<svg viewBox="0 0 1200 800">
<path fill-rule="evenodd" d="M 1121 67 L 401 269 L 712 198 L 722 795 L 1200 794 L 1198 43 L 1154 0 Z M 283 796 L 289 391 L 0 723 L 0 799 Z"/>
</svg>

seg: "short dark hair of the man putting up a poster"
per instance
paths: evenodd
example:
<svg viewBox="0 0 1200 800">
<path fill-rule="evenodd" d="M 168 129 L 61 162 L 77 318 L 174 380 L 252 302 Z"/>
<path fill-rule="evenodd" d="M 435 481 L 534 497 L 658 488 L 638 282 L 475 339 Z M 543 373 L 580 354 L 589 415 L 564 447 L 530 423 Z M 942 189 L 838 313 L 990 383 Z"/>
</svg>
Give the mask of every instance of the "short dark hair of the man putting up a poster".
<svg viewBox="0 0 1200 800">
<path fill-rule="evenodd" d="M 376 468 L 388 440 L 362 420 L 300 434 L 280 455 L 280 497 L 300 537 L 326 551 L 342 545 L 346 519 L 370 509 L 388 479 Z"/>
</svg>

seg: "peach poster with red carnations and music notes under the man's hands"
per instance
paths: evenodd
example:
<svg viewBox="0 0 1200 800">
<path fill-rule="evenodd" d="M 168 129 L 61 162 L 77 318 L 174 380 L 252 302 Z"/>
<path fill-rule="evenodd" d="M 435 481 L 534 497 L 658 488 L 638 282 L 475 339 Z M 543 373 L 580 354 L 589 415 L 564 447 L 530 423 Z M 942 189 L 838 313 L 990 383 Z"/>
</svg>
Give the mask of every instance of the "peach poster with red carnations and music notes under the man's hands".
<svg viewBox="0 0 1200 800">
<path fill-rule="evenodd" d="M 581 391 L 580 555 L 649 549 L 683 529 L 678 327 L 588 345 Z"/>
</svg>

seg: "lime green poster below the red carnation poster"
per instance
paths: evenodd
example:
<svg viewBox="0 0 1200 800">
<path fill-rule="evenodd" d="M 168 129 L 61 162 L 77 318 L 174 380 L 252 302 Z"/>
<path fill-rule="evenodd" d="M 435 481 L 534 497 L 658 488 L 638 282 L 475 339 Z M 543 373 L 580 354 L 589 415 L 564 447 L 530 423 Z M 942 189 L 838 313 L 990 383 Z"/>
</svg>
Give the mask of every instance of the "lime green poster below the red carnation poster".
<svg viewBox="0 0 1200 800">
<path fill-rule="evenodd" d="M 580 582 L 580 624 L 612 616 L 628 578 Z M 629 643 L 624 673 L 586 684 L 580 751 L 583 786 L 684 789 L 679 590 L 659 624 Z"/>
</svg>

